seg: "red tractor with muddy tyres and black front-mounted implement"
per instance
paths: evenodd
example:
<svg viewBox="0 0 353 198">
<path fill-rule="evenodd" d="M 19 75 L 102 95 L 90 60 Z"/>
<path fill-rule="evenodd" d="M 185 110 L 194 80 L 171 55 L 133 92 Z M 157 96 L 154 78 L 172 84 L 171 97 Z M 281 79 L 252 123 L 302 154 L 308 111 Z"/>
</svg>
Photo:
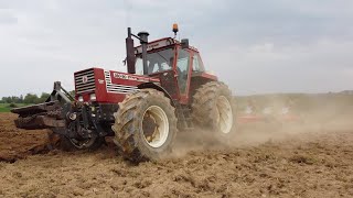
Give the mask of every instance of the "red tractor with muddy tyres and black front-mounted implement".
<svg viewBox="0 0 353 198">
<path fill-rule="evenodd" d="M 176 132 L 194 125 L 226 140 L 235 125 L 228 87 L 205 72 L 188 40 L 148 42 L 148 35 L 135 35 L 128 28 L 127 73 L 77 72 L 75 97 L 54 82 L 46 102 L 12 110 L 19 114 L 17 127 L 51 129 L 62 143 L 78 150 L 97 148 L 105 136 L 114 136 L 122 155 L 135 162 L 168 155 Z M 132 37 L 141 45 L 135 47 Z"/>
</svg>

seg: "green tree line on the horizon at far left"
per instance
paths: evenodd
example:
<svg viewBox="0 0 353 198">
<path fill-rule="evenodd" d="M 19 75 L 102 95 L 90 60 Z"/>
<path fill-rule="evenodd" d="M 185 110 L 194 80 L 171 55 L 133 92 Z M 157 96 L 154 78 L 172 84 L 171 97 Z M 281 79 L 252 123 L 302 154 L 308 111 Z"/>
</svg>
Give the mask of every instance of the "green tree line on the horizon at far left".
<svg viewBox="0 0 353 198">
<path fill-rule="evenodd" d="M 24 97 L 10 96 L 2 97 L 0 103 L 42 103 L 50 97 L 50 94 L 42 92 L 41 96 L 35 94 L 26 94 Z"/>
</svg>

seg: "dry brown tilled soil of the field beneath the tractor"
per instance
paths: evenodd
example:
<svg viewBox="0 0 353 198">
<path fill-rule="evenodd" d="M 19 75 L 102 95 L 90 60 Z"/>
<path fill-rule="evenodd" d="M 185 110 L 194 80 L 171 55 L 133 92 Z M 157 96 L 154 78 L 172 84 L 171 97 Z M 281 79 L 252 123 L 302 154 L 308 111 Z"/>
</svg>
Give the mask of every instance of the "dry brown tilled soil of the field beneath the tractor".
<svg viewBox="0 0 353 198">
<path fill-rule="evenodd" d="M 175 156 L 136 166 L 114 146 L 47 153 L 14 118 L 0 113 L 0 197 L 353 197 L 353 125 L 258 128 L 228 148 L 180 134 Z"/>
</svg>

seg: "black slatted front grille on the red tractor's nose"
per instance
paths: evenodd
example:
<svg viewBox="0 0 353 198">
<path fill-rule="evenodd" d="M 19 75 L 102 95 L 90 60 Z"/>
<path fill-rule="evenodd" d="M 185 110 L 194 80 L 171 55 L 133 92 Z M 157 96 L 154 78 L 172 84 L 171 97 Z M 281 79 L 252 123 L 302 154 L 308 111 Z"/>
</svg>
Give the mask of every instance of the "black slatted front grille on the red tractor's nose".
<svg viewBox="0 0 353 198">
<path fill-rule="evenodd" d="M 75 74 L 76 94 L 94 91 L 95 87 L 95 73 L 93 69 Z"/>
</svg>

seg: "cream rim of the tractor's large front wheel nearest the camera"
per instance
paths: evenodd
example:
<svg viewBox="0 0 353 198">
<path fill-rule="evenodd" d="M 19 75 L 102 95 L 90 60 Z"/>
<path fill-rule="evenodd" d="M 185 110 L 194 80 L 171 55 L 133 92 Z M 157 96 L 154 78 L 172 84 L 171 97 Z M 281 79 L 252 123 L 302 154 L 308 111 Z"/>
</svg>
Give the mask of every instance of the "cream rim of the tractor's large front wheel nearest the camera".
<svg viewBox="0 0 353 198">
<path fill-rule="evenodd" d="M 169 135 L 169 120 L 162 108 L 149 107 L 142 119 L 142 133 L 147 144 L 151 147 L 162 146 Z"/>
</svg>

